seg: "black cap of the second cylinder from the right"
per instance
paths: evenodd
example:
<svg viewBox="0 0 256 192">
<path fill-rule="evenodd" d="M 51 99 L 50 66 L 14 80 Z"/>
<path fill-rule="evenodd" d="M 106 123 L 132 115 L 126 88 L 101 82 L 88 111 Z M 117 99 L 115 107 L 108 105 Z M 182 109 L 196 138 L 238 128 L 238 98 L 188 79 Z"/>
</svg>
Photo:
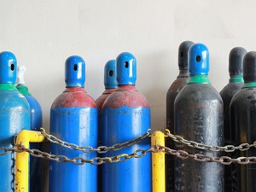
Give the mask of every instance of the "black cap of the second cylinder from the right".
<svg viewBox="0 0 256 192">
<path fill-rule="evenodd" d="M 230 50 L 230 76 L 242 75 L 242 60 L 247 50 L 242 47 L 235 47 Z"/>
</svg>

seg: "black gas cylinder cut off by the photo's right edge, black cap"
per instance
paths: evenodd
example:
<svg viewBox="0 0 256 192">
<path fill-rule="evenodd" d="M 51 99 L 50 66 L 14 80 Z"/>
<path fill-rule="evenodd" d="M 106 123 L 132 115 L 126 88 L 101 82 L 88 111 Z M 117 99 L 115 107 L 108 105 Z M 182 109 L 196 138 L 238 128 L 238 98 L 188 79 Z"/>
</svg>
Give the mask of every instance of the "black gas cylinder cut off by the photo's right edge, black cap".
<svg viewBox="0 0 256 192">
<path fill-rule="evenodd" d="M 236 145 L 253 143 L 256 140 L 256 52 L 250 51 L 243 59 L 244 85 L 230 102 L 230 125 L 234 133 L 232 139 Z M 240 151 L 239 156 L 255 156 L 256 148 Z M 238 165 L 237 190 L 242 192 L 256 191 L 256 165 Z"/>
</svg>

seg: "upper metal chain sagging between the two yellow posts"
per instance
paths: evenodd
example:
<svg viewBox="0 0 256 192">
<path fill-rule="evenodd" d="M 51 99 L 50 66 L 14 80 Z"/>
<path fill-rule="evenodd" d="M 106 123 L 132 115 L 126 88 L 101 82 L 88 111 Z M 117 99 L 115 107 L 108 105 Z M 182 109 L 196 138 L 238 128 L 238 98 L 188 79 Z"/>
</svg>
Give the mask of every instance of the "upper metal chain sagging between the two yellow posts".
<svg viewBox="0 0 256 192">
<path fill-rule="evenodd" d="M 61 139 L 59 139 L 59 138 L 57 138 L 53 135 L 49 135 L 48 133 L 46 133 L 44 131 L 44 129 L 41 129 L 41 130 L 42 130 L 41 132 L 44 135 L 44 137 L 46 137 L 47 140 L 50 143 L 56 143 L 58 145 L 61 145 L 64 148 L 69 148 L 69 149 L 72 149 L 72 150 L 79 150 L 79 151 L 82 151 L 82 152 L 88 153 L 88 154 L 91 153 L 91 152 L 94 152 L 94 151 L 96 151 L 99 154 L 105 154 L 110 150 L 117 151 L 117 150 L 120 150 L 122 148 L 130 147 L 131 145 L 142 142 L 144 138 L 146 138 L 150 135 L 150 131 L 151 131 L 150 129 L 148 129 L 146 131 L 146 133 L 144 133 L 142 136 L 135 137 L 135 138 L 133 138 L 133 139 L 127 141 L 127 142 L 124 142 L 124 143 L 113 144 L 113 146 L 111 146 L 111 147 L 100 146 L 98 148 L 92 148 L 90 146 L 79 147 L 78 145 L 76 145 L 74 143 L 64 142 Z"/>
</svg>

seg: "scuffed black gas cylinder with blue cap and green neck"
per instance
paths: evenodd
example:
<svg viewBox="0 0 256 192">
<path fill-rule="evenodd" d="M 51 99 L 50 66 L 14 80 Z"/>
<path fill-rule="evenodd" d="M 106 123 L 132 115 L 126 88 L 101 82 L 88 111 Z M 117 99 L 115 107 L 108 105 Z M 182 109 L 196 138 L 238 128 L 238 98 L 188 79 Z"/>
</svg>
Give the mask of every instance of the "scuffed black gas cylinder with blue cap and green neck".
<svg viewBox="0 0 256 192">
<path fill-rule="evenodd" d="M 174 102 L 174 133 L 189 141 L 222 146 L 223 101 L 207 78 L 209 51 L 204 44 L 189 49 L 189 81 Z M 176 149 L 189 154 L 218 156 L 217 152 L 191 148 L 175 143 Z M 224 166 L 219 163 L 174 159 L 175 191 L 223 192 Z"/>
</svg>

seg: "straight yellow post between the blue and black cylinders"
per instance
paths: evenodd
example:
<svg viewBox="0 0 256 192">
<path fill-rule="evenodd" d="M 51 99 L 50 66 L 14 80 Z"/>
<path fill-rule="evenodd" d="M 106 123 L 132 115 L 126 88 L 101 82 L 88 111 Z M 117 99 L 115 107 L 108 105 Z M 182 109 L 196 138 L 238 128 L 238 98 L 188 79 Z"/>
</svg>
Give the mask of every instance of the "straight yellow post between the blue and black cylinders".
<svg viewBox="0 0 256 192">
<path fill-rule="evenodd" d="M 154 131 L 151 136 L 151 145 L 165 146 L 165 134 Z M 153 192 L 166 192 L 166 167 L 163 152 L 152 153 L 152 189 Z"/>
</svg>

